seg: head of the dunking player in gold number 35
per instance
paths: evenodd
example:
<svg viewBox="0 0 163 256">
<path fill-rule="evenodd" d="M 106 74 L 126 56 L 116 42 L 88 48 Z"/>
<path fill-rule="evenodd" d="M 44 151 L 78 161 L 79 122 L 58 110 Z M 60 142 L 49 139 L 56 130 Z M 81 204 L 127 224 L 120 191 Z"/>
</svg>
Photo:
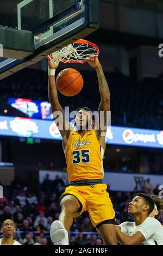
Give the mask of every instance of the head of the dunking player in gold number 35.
<svg viewBox="0 0 163 256">
<path fill-rule="evenodd" d="M 76 126 L 77 130 L 87 130 L 92 124 L 92 115 L 89 111 L 81 109 L 76 114 Z"/>
</svg>

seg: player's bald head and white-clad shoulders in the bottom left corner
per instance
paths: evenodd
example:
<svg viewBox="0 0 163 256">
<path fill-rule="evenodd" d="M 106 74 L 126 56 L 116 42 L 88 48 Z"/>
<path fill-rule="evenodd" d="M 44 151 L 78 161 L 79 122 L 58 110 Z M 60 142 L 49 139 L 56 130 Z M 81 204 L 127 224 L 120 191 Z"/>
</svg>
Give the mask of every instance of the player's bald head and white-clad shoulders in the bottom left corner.
<svg viewBox="0 0 163 256">
<path fill-rule="evenodd" d="M 2 223 L 1 228 L 3 238 L 0 239 L 0 246 L 1 245 L 21 245 L 19 242 L 15 241 L 14 233 L 15 233 L 15 227 L 14 222 L 11 220 L 5 220 Z"/>
</svg>

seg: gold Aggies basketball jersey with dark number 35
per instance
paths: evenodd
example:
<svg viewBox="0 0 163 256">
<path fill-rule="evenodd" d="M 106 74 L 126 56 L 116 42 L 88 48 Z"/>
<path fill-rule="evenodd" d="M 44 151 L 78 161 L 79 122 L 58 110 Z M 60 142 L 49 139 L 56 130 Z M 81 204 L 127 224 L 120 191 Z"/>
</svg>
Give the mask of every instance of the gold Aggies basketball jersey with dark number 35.
<svg viewBox="0 0 163 256">
<path fill-rule="evenodd" d="M 103 179 L 104 149 L 99 144 L 95 130 L 83 137 L 71 131 L 65 147 L 69 181 Z"/>
</svg>

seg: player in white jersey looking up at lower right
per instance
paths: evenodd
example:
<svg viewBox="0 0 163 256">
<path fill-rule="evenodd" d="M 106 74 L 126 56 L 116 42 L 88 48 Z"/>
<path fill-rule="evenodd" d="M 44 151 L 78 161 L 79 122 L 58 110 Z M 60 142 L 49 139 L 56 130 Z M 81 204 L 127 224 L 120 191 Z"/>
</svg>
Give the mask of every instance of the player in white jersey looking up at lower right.
<svg viewBox="0 0 163 256">
<path fill-rule="evenodd" d="M 128 206 L 128 213 L 135 222 L 123 222 L 116 227 L 118 242 L 122 245 L 163 245 L 162 225 L 149 217 L 153 209 L 153 199 L 148 194 L 137 193 Z"/>
</svg>

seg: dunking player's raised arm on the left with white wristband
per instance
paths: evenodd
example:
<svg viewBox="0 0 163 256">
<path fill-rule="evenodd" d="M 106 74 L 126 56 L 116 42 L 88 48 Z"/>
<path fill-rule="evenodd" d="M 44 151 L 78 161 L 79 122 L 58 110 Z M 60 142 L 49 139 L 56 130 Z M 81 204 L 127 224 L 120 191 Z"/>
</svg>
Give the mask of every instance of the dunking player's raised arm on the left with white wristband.
<svg viewBox="0 0 163 256">
<path fill-rule="evenodd" d="M 64 110 L 62 109 L 59 100 L 58 100 L 58 92 L 57 87 L 55 85 L 55 69 L 58 68 L 59 63 L 53 64 L 51 60 L 48 62 L 48 97 L 49 101 L 51 102 L 53 117 L 55 120 L 55 123 L 58 126 L 58 129 L 60 131 L 60 134 L 62 137 L 67 137 L 71 130 L 73 130 L 72 126 L 67 123 L 65 118 Z"/>
</svg>

